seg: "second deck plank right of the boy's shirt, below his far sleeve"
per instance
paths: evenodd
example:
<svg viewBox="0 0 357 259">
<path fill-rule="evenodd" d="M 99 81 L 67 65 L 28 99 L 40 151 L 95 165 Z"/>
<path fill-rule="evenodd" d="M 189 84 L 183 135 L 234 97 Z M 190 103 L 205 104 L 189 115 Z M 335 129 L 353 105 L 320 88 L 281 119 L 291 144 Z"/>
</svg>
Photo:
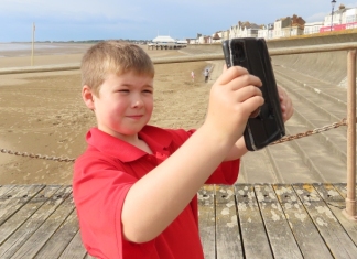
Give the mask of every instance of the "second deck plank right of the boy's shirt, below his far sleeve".
<svg viewBox="0 0 357 259">
<path fill-rule="evenodd" d="M 217 259 L 244 258 L 232 186 L 216 186 Z"/>
</svg>

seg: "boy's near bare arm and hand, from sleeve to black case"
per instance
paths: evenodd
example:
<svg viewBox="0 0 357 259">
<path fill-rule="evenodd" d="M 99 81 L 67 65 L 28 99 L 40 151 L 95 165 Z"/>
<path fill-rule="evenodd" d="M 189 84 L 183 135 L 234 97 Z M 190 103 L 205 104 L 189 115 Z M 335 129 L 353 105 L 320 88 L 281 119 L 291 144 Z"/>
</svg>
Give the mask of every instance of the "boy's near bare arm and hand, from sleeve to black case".
<svg viewBox="0 0 357 259">
<path fill-rule="evenodd" d="M 160 235 L 242 136 L 249 115 L 263 104 L 258 77 L 231 67 L 210 90 L 204 125 L 169 159 L 134 183 L 125 199 L 125 238 L 145 242 Z"/>
</svg>

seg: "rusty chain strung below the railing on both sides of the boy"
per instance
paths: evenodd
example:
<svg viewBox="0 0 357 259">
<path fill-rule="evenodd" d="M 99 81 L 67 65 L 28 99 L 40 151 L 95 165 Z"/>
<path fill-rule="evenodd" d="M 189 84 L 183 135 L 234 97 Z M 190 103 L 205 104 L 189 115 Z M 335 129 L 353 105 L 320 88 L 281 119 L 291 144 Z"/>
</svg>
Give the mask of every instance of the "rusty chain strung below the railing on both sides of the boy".
<svg viewBox="0 0 357 259">
<path fill-rule="evenodd" d="M 316 128 L 314 130 L 307 130 L 306 132 L 303 132 L 303 133 L 285 136 L 285 137 L 281 138 L 280 140 L 272 142 L 270 145 L 292 141 L 295 139 L 301 139 L 301 138 L 309 137 L 312 134 L 317 134 L 317 133 L 321 133 L 324 131 L 336 129 L 342 126 L 347 126 L 346 118 L 342 119 L 338 122 L 328 125 L 328 126 Z M 57 161 L 57 162 L 75 162 L 75 160 L 76 160 L 76 159 L 71 159 L 71 158 L 65 158 L 65 157 L 53 157 L 53 155 L 33 154 L 33 153 L 28 153 L 28 152 L 18 152 L 18 151 L 12 151 L 12 150 L 7 150 L 7 149 L 0 149 L 0 152 L 6 153 L 6 154 L 14 154 L 14 155 L 24 157 L 24 158 L 31 158 L 31 159 L 53 160 L 53 161 Z"/>
</svg>

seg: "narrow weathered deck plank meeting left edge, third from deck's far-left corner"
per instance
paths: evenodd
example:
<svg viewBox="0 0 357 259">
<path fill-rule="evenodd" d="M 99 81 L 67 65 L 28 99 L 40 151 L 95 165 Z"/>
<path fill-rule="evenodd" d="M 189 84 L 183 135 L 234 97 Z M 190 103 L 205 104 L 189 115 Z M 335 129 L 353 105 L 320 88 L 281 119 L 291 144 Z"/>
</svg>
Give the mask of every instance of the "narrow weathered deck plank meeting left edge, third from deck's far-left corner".
<svg viewBox="0 0 357 259">
<path fill-rule="evenodd" d="M 11 218 L 2 224 L 0 227 L 0 245 L 2 245 L 32 214 L 34 214 L 39 207 L 48 199 L 48 197 L 58 191 L 58 185 L 45 186 L 14 215 L 12 215 Z"/>
</svg>

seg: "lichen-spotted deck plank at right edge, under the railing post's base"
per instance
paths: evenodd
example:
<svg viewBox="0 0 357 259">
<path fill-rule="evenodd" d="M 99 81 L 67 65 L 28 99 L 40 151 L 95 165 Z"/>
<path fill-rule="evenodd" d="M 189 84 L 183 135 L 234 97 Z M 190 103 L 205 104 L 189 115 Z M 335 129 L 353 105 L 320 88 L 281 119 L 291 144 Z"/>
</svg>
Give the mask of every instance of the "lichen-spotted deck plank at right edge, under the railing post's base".
<svg viewBox="0 0 357 259">
<path fill-rule="evenodd" d="M 357 246 L 357 223 L 347 219 L 342 211 L 346 208 L 346 184 L 314 184 L 314 187 L 327 203 L 349 238 Z"/>
</svg>

